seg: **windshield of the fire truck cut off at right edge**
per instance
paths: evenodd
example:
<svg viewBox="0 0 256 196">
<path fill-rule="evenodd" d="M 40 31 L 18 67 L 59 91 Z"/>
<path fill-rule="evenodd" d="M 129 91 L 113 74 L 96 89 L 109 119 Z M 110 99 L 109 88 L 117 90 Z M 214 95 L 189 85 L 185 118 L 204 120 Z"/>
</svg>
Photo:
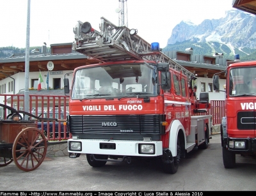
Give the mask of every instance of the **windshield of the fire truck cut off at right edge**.
<svg viewBox="0 0 256 196">
<path fill-rule="evenodd" d="M 256 94 L 256 68 L 234 68 L 229 77 L 230 96 L 248 96 Z"/>
</svg>

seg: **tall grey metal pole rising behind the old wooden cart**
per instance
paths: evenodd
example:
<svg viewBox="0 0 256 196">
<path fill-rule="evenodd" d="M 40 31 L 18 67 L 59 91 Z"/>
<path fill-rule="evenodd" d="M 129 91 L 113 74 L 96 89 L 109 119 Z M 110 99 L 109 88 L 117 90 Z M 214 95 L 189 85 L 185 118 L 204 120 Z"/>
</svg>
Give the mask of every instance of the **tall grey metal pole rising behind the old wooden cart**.
<svg viewBox="0 0 256 196">
<path fill-rule="evenodd" d="M 26 32 L 26 60 L 25 60 L 25 92 L 24 111 L 29 112 L 29 32 L 30 32 L 30 0 L 28 0 L 27 32 Z M 24 116 L 28 120 L 28 115 Z"/>
</svg>

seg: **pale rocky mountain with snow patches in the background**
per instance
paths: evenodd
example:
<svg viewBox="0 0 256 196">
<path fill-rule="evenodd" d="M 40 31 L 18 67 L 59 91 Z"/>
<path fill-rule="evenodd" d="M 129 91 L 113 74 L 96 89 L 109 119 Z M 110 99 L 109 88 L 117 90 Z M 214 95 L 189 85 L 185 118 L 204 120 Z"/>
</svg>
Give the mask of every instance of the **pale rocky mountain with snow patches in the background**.
<svg viewBox="0 0 256 196">
<path fill-rule="evenodd" d="M 226 57 L 246 57 L 256 52 L 256 16 L 229 10 L 221 19 L 206 19 L 196 26 L 182 21 L 173 28 L 163 51 L 193 48 L 193 54 L 223 53 Z"/>
</svg>

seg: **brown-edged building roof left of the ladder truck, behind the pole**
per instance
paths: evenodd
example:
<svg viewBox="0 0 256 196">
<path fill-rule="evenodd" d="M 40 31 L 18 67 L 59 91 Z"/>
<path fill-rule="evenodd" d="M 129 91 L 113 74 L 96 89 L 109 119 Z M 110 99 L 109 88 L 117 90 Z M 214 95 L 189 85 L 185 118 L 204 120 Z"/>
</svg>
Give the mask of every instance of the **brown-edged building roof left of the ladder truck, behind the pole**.
<svg viewBox="0 0 256 196">
<path fill-rule="evenodd" d="M 47 63 L 52 61 L 54 69 L 52 71 L 74 70 L 75 68 L 87 64 L 99 63 L 99 60 L 89 58 L 84 54 L 74 52 L 72 43 L 52 44 L 52 53 L 38 53 L 29 55 L 29 72 L 47 71 Z M 54 54 L 55 51 L 61 51 Z M 58 49 L 58 50 L 57 50 Z M 67 53 L 65 51 L 68 51 Z M 25 72 L 26 56 L 0 57 L 0 80 L 6 79 L 19 72 Z"/>
</svg>

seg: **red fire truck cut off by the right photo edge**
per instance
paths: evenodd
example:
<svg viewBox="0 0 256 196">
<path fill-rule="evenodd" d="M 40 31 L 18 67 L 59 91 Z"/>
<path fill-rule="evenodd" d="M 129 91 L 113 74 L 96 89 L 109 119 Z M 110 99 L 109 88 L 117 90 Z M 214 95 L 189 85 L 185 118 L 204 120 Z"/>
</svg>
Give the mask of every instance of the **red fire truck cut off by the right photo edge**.
<svg viewBox="0 0 256 196">
<path fill-rule="evenodd" d="M 221 123 L 225 168 L 236 166 L 237 154 L 253 158 L 256 155 L 256 61 L 239 62 L 238 55 L 235 59 L 225 70 L 226 110 Z M 218 75 L 214 75 L 213 84 L 214 90 L 220 90 Z"/>
</svg>

